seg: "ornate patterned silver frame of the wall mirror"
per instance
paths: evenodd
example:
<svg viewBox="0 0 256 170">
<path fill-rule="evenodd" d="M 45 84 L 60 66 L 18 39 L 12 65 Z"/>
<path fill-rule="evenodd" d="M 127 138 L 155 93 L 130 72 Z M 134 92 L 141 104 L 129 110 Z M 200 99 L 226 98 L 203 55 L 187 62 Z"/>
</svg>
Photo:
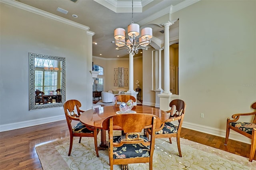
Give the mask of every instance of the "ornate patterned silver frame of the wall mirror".
<svg viewBox="0 0 256 170">
<path fill-rule="evenodd" d="M 35 58 L 58 60 L 61 62 L 61 103 L 35 105 Z M 66 58 L 38 53 L 29 53 L 29 110 L 62 107 L 66 101 Z"/>
</svg>

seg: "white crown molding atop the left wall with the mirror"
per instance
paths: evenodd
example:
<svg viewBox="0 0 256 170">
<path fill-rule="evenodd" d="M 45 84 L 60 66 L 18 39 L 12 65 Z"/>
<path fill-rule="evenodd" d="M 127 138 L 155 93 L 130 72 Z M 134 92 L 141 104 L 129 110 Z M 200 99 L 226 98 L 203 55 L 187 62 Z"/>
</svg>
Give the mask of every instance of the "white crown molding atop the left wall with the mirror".
<svg viewBox="0 0 256 170">
<path fill-rule="evenodd" d="M 62 18 L 60 16 L 56 16 L 56 15 L 51 14 L 49 12 L 45 12 L 43 10 L 39 10 L 37 8 L 34 8 L 32 6 L 28 6 L 26 4 L 22 4 L 22 3 L 18 2 L 18 1 L 15 1 L 15 0 L 1 0 L 0 2 L 3 3 L 3 4 L 6 4 L 6 5 L 10 5 L 10 6 L 22 9 L 22 10 L 26 10 L 28 12 L 32 12 L 34 14 L 38 14 L 40 16 L 44 16 L 46 18 L 50 18 L 52 20 L 56 20 L 58 22 L 62 22 L 64 24 L 68 24 L 70 26 L 74 26 L 76 28 L 80 28 L 82 30 L 86 30 L 86 31 L 90 30 L 90 27 L 88 27 L 88 26 L 84 26 L 82 24 L 78 24 L 76 22 L 67 20 L 67 19 Z"/>
</svg>

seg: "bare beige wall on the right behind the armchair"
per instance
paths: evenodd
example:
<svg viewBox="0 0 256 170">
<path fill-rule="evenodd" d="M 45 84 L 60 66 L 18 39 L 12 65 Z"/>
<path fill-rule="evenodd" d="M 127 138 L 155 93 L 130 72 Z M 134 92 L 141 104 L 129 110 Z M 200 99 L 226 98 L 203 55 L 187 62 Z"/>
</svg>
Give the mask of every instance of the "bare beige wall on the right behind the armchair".
<svg viewBox="0 0 256 170">
<path fill-rule="evenodd" d="M 256 102 L 256 1 L 202 0 L 177 18 L 184 121 L 226 130 L 228 117 Z"/>
</svg>

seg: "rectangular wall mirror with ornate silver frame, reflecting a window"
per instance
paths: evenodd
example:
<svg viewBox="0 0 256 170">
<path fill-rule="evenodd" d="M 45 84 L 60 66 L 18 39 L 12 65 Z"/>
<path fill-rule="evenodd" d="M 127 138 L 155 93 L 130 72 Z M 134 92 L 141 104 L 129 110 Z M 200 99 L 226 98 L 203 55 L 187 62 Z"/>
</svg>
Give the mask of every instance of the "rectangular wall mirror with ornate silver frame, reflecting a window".
<svg viewBox="0 0 256 170">
<path fill-rule="evenodd" d="M 66 58 L 29 53 L 29 110 L 62 107 L 66 101 Z"/>
</svg>

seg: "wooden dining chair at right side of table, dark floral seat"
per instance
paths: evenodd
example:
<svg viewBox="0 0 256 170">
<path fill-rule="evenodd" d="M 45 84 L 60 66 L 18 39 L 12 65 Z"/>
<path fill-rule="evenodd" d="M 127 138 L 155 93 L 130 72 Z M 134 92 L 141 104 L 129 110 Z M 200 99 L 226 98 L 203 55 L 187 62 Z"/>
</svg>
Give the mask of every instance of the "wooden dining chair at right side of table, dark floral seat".
<svg viewBox="0 0 256 170">
<path fill-rule="evenodd" d="M 176 137 L 179 156 L 182 157 L 180 150 L 180 132 L 186 110 L 186 103 L 180 99 L 174 99 L 170 102 L 171 109 L 166 111 L 170 113 L 170 118 L 162 123 L 162 129 L 156 131 L 156 138 L 169 138 L 172 143 L 172 137 Z M 172 124 L 172 121 L 178 121 L 178 126 Z M 147 135 L 148 136 L 148 135 Z"/>
</svg>

